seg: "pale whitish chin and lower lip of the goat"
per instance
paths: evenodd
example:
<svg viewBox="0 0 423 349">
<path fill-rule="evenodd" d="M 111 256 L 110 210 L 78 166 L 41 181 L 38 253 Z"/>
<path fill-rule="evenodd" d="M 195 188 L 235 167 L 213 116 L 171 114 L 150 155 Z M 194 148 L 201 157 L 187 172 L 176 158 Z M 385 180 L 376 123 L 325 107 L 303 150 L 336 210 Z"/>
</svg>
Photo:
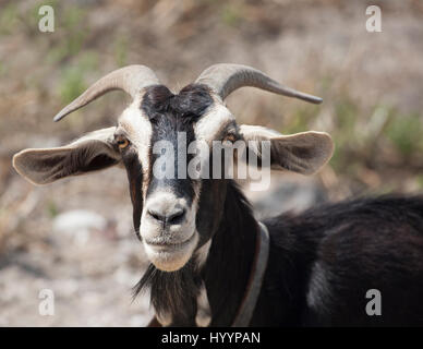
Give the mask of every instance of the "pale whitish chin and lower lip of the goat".
<svg viewBox="0 0 423 349">
<path fill-rule="evenodd" d="M 198 233 L 196 231 L 186 242 L 176 246 L 157 246 L 143 241 L 149 262 L 162 272 L 176 272 L 182 268 L 190 261 L 197 243 Z"/>
</svg>

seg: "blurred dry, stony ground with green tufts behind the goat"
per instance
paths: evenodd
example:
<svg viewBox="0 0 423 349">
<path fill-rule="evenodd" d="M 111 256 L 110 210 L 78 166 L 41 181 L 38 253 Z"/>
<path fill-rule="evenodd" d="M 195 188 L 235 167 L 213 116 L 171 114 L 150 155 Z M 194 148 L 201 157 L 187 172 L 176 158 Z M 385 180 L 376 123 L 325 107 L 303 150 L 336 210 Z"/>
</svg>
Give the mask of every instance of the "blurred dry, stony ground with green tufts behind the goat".
<svg viewBox="0 0 423 349">
<path fill-rule="evenodd" d="M 38 9 L 55 9 L 55 32 Z M 382 33 L 365 9 L 382 8 Z M 208 65 L 253 65 L 324 98 L 309 105 L 253 88 L 228 98 L 240 123 L 326 131 L 336 143 L 314 177 L 273 176 L 249 193 L 257 215 L 323 201 L 423 191 L 423 1 L 0 0 L 0 326 L 143 326 L 132 302 L 146 266 L 126 174 L 111 169 L 35 188 L 11 167 L 26 147 L 64 144 L 116 123 L 122 93 L 60 123 L 52 117 L 106 73 L 146 64 L 170 88 Z M 40 316 L 41 289 L 55 316 Z"/>
</svg>

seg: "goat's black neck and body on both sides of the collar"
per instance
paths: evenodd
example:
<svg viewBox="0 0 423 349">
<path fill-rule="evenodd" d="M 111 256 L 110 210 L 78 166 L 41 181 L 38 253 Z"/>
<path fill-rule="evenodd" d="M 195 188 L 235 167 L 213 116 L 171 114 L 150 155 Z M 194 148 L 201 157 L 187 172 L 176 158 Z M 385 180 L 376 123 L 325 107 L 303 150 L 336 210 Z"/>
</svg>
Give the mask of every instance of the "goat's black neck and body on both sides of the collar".
<svg viewBox="0 0 423 349">
<path fill-rule="evenodd" d="M 204 270 L 216 326 L 235 315 L 256 233 L 231 191 Z M 326 204 L 264 222 L 270 254 L 252 326 L 423 325 L 422 196 Z M 380 292 L 380 315 L 366 313 L 370 289 Z"/>
</svg>

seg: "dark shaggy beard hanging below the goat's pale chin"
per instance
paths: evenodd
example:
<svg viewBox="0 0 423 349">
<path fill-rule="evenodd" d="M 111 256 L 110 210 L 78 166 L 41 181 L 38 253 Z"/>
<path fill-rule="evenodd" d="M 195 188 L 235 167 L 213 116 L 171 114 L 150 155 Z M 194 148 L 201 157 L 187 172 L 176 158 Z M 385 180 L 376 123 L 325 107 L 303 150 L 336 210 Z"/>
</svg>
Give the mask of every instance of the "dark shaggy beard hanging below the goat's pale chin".
<svg viewBox="0 0 423 349">
<path fill-rule="evenodd" d="M 201 286 L 202 278 L 192 260 L 176 272 L 162 272 L 149 264 L 134 287 L 133 298 L 149 290 L 156 314 L 171 316 L 172 325 L 195 326 Z"/>
</svg>

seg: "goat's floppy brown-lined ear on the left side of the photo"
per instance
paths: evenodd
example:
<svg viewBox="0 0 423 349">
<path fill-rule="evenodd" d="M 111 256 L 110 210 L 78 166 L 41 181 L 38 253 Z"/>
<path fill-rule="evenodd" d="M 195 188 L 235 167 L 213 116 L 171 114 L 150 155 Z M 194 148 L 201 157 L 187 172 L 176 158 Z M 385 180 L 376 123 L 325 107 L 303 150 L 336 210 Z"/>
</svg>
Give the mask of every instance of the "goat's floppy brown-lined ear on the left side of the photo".
<svg viewBox="0 0 423 349">
<path fill-rule="evenodd" d="M 13 156 L 13 167 L 34 184 L 102 170 L 121 159 L 112 142 L 114 130 L 98 130 L 57 148 L 22 151 Z"/>
</svg>

